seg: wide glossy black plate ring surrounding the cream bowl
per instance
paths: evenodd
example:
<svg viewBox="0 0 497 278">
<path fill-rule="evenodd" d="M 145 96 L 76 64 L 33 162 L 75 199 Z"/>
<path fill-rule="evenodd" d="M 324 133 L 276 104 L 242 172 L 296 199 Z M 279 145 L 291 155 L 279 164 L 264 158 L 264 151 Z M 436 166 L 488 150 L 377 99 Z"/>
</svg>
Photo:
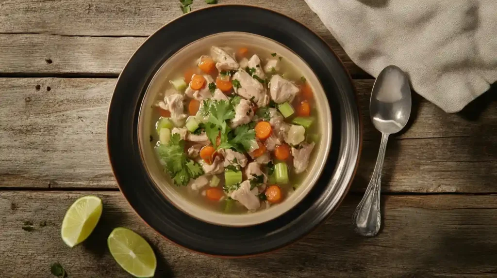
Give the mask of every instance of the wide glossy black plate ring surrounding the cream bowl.
<svg viewBox="0 0 497 278">
<path fill-rule="evenodd" d="M 248 227 L 214 225 L 178 210 L 150 180 L 138 145 L 141 102 L 159 67 L 186 45 L 208 35 L 231 31 L 273 39 L 302 57 L 327 92 L 333 115 L 331 153 L 314 188 L 282 216 Z M 271 10 L 218 5 L 171 21 L 131 57 L 119 76 L 110 103 L 107 144 L 119 188 L 145 222 L 170 241 L 190 250 L 237 257 L 283 247 L 326 220 L 347 192 L 357 166 L 360 129 L 350 78 L 320 37 L 299 22 Z"/>
</svg>

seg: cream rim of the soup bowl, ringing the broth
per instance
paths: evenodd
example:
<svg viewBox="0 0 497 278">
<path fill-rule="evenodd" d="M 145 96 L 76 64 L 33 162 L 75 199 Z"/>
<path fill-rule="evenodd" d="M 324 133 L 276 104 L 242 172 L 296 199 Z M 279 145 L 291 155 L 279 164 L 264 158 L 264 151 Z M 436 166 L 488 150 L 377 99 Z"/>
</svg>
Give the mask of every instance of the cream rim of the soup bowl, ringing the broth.
<svg viewBox="0 0 497 278">
<path fill-rule="evenodd" d="M 310 162 L 309 165 L 309 173 L 306 174 L 305 179 L 300 183 L 300 186 L 295 192 L 292 194 L 292 196 L 285 198 L 281 203 L 276 204 L 274 206 L 271 206 L 270 208 L 266 208 L 254 213 L 241 213 L 241 214 L 225 214 L 222 212 L 216 212 L 212 210 L 208 210 L 206 208 L 202 208 L 201 206 L 193 203 L 193 202 L 188 202 L 187 198 L 185 196 L 179 196 L 181 194 L 178 194 L 177 192 L 174 192 L 175 190 L 165 190 L 158 184 L 159 180 L 157 180 L 154 176 L 155 174 L 152 174 L 151 172 L 153 169 L 150 167 L 150 164 L 154 164 L 156 162 L 150 162 L 146 160 L 146 148 L 148 149 L 150 146 L 149 140 L 146 140 L 144 134 L 145 130 L 144 128 L 146 124 L 145 122 L 145 115 L 147 114 L 147 111 L 149 110 L 149 105 L 150 103 L 146 103 L 146 101 L 150 99 L 154 99 L 155 96 L 151 96 L 151 94 L 157 94 L 158 92 L 151 92 L 151 87 L 155 85 L 155 83 L 158 82 L 164 82 L 162 77 L 165 77 L 164 74 L 161 76 L 161 71 L 167 67 L 167 63 L 170 62 L 170 60 L 177 59 L 177 56 L 185 56 L 185 51 L 189 51 L 195 48 L 196 45 L 199 45 L 201 43 L 205 43 L 205 41 L 209 40 L 215 40 L 216 37 L 225 37 L 225 36 L 238 36 L 238 37 L 246 37 L 247 39 L 253 38 L 254 41 L 257 42 L 262 42 L 265 41 L 267 44 L 272 44 L 272 45 L 277 45 L 277 47 L 281 47 L 285 51 L 288 51 L 292 57 L 289 57 L 287 55 L 281 54 L 279 51 L 275 49 L 275 52 L 278 54 L 281 54 L 280 56 L 284 57 L 289 63 L 292 64 L 295 68 L 298 68 L 301 70 L 303 73 L 304 71 L 309 72 L 312 76 L 308 76 L 306 74 L 306 77 L 308 78 L 309 84 L 313 87 L 313 91 L 315 94 L 321 95 L 320 98 L 324 98 L 323 100 L 325 101 L 325 105 L 319 105 L 320 110 L 318 112 L 318 122 L 320 123 L 320 126 L 323 127 L 325 126 L 325 130 L 321 132 L 321 128 L 319 129 L 321 139 L 318 144 L 316 144 L 316 148 L 313 150 L 315 154 L 314 161 Z M 229 43 L 227 43 L 229 44 Z M 255 43 L 257 45 L 257 43 Z M 258 46 L 258 45 L 257 45 Z M 265 47 L 261 47 L 265 51 Z M 186 56 L 189 56 L 186 54 Z M 305 69 L 302 69 L 300 66 L 297 66 L 295 62 L 301 63 L 303 66 L 305 66 Z M 171 65 L 169 65 L 171 67 Z M 174 67 L 174 65 L 172 65 Z M 166 70 L 167 71 L 167 70 Z M 174 70 L 170 70 L 169 74 L 174 72 Z M 159 69 L 155 72 L 154 76 L 152 77 L 150 83 L 147 86 L 147 89 L 145 90 L 144 97 L 142 99 L 142 103 L 140 106 L 140 111 L 138 115 L 138 144 L 139 144 L 139 150 L 140 150 L 140 155 L 141 155 L 141 160 L 142 163 L 144 164 L 145 168 L 147 169 L 147 174 L 149 178 L 152 180 L 152 182 L 155 184 L 156 187 L 158 187 L 161 192 L 163 193 L 164 197 L 172 204 L 174 205 L 177 209 L 183 211 L 187 215 L 196 218 L 200 221 L 204 222 L 209 222 L 212 224 L 217 224 L 217 225 L 225 225 L 225 226 L 233 226 L 233 227 L 243 227 L 243 226 L 250 226 L 250 225 L 257 225 L 263 222 L 268 222 L 271 221 L 282 214 L 288 212 L 291 210 L 293 207 L 298 205 L 300 201 L 302 201 L 305 196 L 312 190 L 313 186 L 316 184 L 318 181 L 319 177 L 321 176 L 324 168 L 325 168 L 325 162 L 328 159 L 328 156 L 330 155 L 331 152 L 331 140 L 332 140 L 332 111 L 329 106 L 329 100 L 326 95 L 326 92 L 323 88 L 323 85 L 321 84 L 321 80 L 317 77 L 316 73 L 312 70 L 310 65 L 297 53 L 295 53 L 293 50 L 290 48 L 286 47 L 285 45 L 271 39 L 268 37 L 264 37 L 258 34 L 253 34 L 253 33 L 248 33 L 248 32 L 238 32 L 238 31 L 229 31 L 229 32 L 220 32 L 220 33 L 215 33 L 211 34 L 208 36 L 205 36 L 203 38 L 200 38 L 198 40 L 195 40 L 186 46 L 182 47 L 180 50 L 169 56 L 163 64 L 159 67 Z M 326 133 L 326 134 L 325 134 Z M 323 152 L 323 155 L 321 155 Z M 314 167 L 317 167 L 317 170 L 314 169 Z M 169 180 L 167 180 L 168 182 Z M 165 186 L 169 187 L 174 187 L 173 184 L 168 183 Z M 179 200 L 178 200 L 179 199 Z M 175 201 L 176 200 L 176 201 Z M 185 201 L 186 200 L 186 201 Z M 200 208 L 200 209 L 199 209 Z M 201 211 L 201 213 L 199 212 Z"/>
</svg>

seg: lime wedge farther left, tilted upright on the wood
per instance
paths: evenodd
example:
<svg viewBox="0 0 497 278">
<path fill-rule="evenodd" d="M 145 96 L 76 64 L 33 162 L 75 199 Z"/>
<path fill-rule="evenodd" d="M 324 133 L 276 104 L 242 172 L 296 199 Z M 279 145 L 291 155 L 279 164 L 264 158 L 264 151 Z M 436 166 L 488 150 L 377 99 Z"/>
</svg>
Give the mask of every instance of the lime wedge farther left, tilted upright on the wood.
<svg viewBox="0 0 497 278">
<path fill-rule="evenodd" d="M 102 215 L 102 200 L 96 196 L 83 196 L 76 200 L 62 221 L 62 240 L 69 246 L 83 242 L 95 228 Z"/>
</svg>

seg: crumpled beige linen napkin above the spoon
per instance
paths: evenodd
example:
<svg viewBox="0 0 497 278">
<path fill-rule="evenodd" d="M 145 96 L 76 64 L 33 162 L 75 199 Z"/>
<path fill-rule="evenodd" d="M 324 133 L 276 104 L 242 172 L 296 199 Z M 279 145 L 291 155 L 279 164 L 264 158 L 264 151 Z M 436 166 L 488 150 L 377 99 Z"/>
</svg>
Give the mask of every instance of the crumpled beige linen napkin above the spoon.
<svg viewBox="0 0 497 278">
<path fill-rule="evenodd" d="M 352 61 L 402 68 L 446 112 L 497 80 L 497 0 L 306 0 Z"/>
</svg>

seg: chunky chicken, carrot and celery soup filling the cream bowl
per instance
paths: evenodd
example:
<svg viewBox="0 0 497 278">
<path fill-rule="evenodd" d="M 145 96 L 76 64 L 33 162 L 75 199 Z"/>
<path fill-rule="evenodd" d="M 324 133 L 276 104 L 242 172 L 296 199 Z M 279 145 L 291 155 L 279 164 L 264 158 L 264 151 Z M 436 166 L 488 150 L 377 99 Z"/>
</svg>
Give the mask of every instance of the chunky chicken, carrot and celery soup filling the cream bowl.
<svg viewBox="0 0 497 278">
<path fill-rule="evenodd" d="M 225 213 L 280 203 L 307 175 L 319 140 L 313 92 L 276 53 L 210 48 L 156 101 L 155 149 L 185 198 Z"/>
</svg>

